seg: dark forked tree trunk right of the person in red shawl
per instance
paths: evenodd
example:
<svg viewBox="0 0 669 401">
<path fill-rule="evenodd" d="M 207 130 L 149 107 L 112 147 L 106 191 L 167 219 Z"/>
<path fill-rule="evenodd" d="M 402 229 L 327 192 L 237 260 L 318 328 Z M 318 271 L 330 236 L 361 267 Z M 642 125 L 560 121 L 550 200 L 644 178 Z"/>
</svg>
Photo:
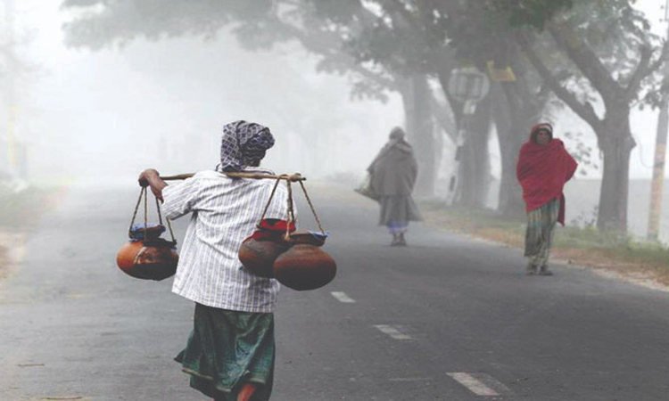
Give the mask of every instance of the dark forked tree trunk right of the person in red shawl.
<svg viewBox="0 0 669 401">
<path fill-rule="evenodd" d="M 599 230 L 627 232 L 627 201 L 630 190 L 630 154 L 635 146 L 630 131 L 630 109 L 620 105 L 607 112 L 602 132 L 598 132 L 599 149 L 604 153 L 601 190 L 599 192 Z"/>
</svg>

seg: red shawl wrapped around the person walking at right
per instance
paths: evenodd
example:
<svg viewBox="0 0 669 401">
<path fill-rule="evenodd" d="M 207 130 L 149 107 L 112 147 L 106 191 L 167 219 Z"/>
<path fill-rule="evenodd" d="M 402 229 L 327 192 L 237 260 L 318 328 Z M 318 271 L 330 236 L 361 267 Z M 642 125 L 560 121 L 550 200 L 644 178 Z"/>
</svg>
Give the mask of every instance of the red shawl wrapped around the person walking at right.
<svg viewBox="0 0 669 401">
<path fill-rule="evenodd" d="M 565 194 L 562 189 L 569 181 L 578 163 L 567 153 L 565 143 L 552 139 L 542 146 L 532 139 L 520 149 L 516 177 L 523 187 L 527 211 L 541 208 L 549 201 L 560 199 L 558 222 L 565 225 Z"/>
</svg>

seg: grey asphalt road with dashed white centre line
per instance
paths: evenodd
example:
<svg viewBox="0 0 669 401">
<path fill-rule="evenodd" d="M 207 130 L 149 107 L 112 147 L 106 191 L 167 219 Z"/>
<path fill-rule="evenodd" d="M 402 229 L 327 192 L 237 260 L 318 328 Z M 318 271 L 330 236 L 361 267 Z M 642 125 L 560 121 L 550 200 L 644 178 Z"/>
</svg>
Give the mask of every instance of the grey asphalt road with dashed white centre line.
<svg viewBox="0 0 669 401">
<path fill-rule="evenodd" d="M 0 284 L 0 400 L 206 399 L 172 361 L 192 303 L 115 266 L 137 192 L 74 189 L 30 234 Z M 423 225 L 391 248 L 372 202 L 315 198 L 339 272 L 282 291 L 273 400 L 669 399 L 669 294 L 525 277 L 520 250 Z"/>
</svg>

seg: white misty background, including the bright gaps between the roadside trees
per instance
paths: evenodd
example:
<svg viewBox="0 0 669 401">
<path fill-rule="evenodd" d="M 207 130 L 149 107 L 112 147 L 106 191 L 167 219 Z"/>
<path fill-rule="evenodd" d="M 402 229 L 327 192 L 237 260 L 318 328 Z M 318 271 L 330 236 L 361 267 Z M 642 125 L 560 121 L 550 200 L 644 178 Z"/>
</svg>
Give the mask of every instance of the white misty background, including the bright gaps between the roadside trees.
<svg viewBox="0 0 669 401">
<path fill-rule="evenodd" d="M 387 102 L 351 99 L 351 80 L 319 73 L 317 57 L 295 41 L 250 52 L 221 29 L 208 39 L 138 37 L 92 52 L 64 45 L 62 24 L 76 14 L 61 3 L 15 3 L 17 51 L 29 70 L 17 78 L 16 136 L 25 144 L 31 182 L 134 185 L 144 168 L 164 175 L 214 168 L 221 127 L 247 119 L 270 127 L 277 138 L 264 166 L 351 186 L 362 179 L 391 128 L 405 125 L 398 94 Z M 664 37 L 663 4 L 644 0 L 635 6 Z M 555 120 L 556 136 L 566 139 L 567 147 L 575 142 L 561 133 L 570 131 L 582 132 L 581 141 L 597 148 L 591 128 L 568 108 Z M 632 112 L 637 146 L 631 157 L 630 177 L 636 181 L 629 228 L 639 235 L 647 224 L 656 126 L 657 110 Z M 439 135 L 444 151 L 437 198 L 444 196 L 454 157 L 453 143 L 444 132 Z M 491 175 L 499 179 L 497 141 L 493 130 Z M 594 213 L 599 184 L 590 180 L 600 177 L 601 168 L 586 168 L 567 184 L 568 221 Z M 491 208 L 497 192 L 499 183 L 491 184 L 486 202 Z M 663 217 L 663 238 L 667 231 L 669 220 Z"/>
</svg>

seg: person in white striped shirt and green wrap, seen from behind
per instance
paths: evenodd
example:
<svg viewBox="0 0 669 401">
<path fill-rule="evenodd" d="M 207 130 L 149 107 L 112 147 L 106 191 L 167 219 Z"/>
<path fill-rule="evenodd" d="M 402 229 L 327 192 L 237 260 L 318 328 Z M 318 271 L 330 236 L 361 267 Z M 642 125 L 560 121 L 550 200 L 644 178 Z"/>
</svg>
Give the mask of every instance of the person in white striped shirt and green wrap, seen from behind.
<svg viewBox="0 0 669 401">
<path fill-rule="evenodd" d="M 217 171 L 169 186 L 154 169 L 139 176 L 164 200 L 167 217 L 191 213 L 172 291 L 194 301 L 194 328 L 175 359 L 191 387 L 215 401 L 263 401 L 272 391 L 279 283 L 249 273 L 237 251 L 255 230 L 274 180 L 222 174 L 274 174 L 259 168 L 272 145 L 267 127 L 235 121 L 223 127 Z M 286 220 L 286 197 L 279 186 L 266 217 Z"/>
</svg>

